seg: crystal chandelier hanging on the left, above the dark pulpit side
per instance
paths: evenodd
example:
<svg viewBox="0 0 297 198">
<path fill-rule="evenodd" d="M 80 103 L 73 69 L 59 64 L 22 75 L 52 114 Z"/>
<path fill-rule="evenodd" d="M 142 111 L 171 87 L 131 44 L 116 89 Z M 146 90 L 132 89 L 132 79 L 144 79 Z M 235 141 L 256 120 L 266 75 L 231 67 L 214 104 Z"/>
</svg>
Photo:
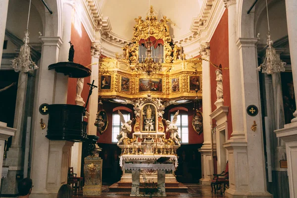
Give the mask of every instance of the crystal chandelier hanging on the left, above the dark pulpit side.
<svg viewBox="0 0 297 198">
<path fill-rule="evenodd" d="M 29 47 L 29 16 L 30 16 L 30 8 L 31 8 L 31 0 L 29 2 L 29 13 L 28 13 L 28 21 L 27 21 L 27 30 L 25 31 L 25 37 L 23 39 L 24 45 L 21 46 L 20 52 L 18 57 L 11 60 L 11 66 L 14 68 L 15 72 L 28 72 L 28 71 L 34 71 L 35 69 L 38 69 L 38 66 L 35 64 L 35 62 L 31 58 Z"/>
</svg>

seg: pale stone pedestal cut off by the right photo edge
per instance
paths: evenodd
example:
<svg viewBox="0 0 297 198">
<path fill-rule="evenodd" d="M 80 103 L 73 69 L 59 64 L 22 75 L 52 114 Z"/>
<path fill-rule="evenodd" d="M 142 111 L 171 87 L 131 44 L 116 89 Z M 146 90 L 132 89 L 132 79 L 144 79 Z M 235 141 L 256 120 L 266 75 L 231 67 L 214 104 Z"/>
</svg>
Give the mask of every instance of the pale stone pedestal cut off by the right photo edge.
<svg viewBox="0 0 297 198">
<path fill-rule="evenodd" d="M 274 132 L 286 144 L 290 198 L 297 198 L 297 122 Z"/>
</svg>

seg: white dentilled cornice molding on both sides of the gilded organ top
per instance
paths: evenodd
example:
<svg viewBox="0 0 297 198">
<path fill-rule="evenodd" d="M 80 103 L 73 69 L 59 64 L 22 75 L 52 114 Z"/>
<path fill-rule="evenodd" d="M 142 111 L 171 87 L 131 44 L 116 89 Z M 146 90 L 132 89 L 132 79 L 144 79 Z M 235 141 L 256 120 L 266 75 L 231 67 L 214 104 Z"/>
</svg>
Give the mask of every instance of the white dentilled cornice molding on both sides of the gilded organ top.
<svg viewBox="0 0 297 198">
<path fill-rule="evenodd" d="M 104 17 L 100 11 L 98 0 L 79 1 L 85 10 L 82 12 L 83 25 L 92 42 L 102 39 L 103 55 L 114 57 L 115 52 L 122 52 L 122 47 L 132 43 L 131 39 L 112 32 L 108 17 Z M 193 18 L 191 32 L 178 38 L 172 38 L 173 43 L 182 46 L 189 57 L 199 55 L 199 45 L 210 41 L 226 9 L 222 0 L 204 0 L 201 7 L 198 17 Z M 100 38 L 97 36 L 98 33 L 100 33 Z"/>
</svg>

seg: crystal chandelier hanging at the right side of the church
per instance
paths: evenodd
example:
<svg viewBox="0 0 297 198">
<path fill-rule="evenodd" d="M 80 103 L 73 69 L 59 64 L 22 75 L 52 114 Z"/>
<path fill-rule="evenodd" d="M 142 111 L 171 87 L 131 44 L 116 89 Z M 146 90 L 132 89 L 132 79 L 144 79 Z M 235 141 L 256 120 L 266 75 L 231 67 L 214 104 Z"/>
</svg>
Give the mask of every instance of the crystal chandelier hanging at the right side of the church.
<svg viewBox="0 0 297 198">
<path fill-rule="evenodd" d="M 270 36 L 269 28 L 269 18 L 268 18 L 268 7 L 266 0 L 266 10 L 267 10 L 267 23 L 268 23 L 268 39 L 267 39 L 267 49 L 265 54 L 265 59 L 263 63 L 257 68 L 258 71 L 262 68 L 262 73 L 275 74 L 285 71 L 286 62 L 283 62 L 279 56 L 276 54 L 275 49 L 273 48 L 273 41 Z"/>
</svg>

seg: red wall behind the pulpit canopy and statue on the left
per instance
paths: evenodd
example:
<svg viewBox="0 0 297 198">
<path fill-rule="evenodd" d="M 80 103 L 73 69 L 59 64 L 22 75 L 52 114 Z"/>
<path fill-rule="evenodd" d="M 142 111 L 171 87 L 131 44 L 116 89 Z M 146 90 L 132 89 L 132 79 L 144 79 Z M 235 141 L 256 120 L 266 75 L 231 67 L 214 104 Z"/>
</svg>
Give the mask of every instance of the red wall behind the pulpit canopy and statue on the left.
<svg viewBox="0 0 297 198">
<path fill-rule="evenodd" d="M 87 65 L 91 64 L 91 44 L 92 44 L 92 42 L 91 42 L 83 24 L 81 24 L 80 28 L 81 28 L 81 32 L 82 32 L 81 35 L 75 29 L 74 24 L 72 23 L 71 43 L 74 45 L 74 50 L 75 50 L 73 62 L 87 66 Z M 64 41 L 64 42 L 66 43 L 69 41 Z M 77 82 L 77 78 L 68 78 L 67 104 L 75 104 L 76 82 Z M 84 89 L 81 94 L 81 96 L 85 102 L 88 99 L 89 90 L 90 90 L 90 86 L 87 83 L 90 83 L 90 76 L 85 78 Z M 93 93 L 93 94 L 97 94 L 97 93 Z"/>
</svg>

